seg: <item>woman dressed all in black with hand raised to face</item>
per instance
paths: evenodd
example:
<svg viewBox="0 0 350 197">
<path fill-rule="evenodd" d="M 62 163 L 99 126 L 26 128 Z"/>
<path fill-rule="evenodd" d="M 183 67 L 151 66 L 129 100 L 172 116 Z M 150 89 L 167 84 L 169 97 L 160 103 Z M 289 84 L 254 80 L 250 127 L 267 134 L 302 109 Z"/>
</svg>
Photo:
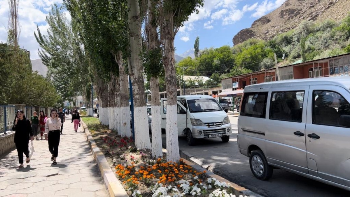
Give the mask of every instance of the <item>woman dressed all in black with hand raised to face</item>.
<svg viewBox="0 0 350 197">
<path fill-rule="evenodd" d="M 33 140 L 33 131 L 31 130 L 30 121 L 26 119 L 23 110 L 18 110 L 16 113 L 16 118 L 13 121 L 12 130 L 15 131 L 14 142 L 16 144 L 16 149 L 18 152 L 19 167 L 23 167 L 23 154 L 26 155 L 26 163 L 29 163 L 29 149 L 28 143 L 29 139 Z"/>
</svg>

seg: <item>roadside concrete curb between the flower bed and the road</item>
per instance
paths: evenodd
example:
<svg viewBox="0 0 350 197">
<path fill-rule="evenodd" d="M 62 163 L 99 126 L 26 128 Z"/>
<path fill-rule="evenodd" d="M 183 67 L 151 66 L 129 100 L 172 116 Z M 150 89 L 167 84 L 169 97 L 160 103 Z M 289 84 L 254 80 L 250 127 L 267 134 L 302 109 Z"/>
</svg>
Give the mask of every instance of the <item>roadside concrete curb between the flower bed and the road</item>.
<svg viewBox="0 0 350 197">
<path fill-rule="evenodd" d="M 163 152 L 166 152 L 166 144 L 162 144 L 162 147 L 163 147 Z M 190 154 L 187 151 L 180 150 L 180 157 L 184 159 L 186 164 L 190 165 L 192 168 L 196 169 L 197 171 L 203 172 L 204 170 L 206 170 L 206 168 L 209 167 L 209 165 L 203 163 L 201 160 L 197 159 L 196 157 L 194 157 L 192 154 Z M 229 180 L 227 180 L 219 175 L 214 174 L 213 172 L 209 172 L 208 170 L 206 170 L 206 171 L 207 171 L 206 174 L 208 176 L 210 176 L 212 178 L 216 178 L 220 182 L 226 182 L 226 183 L 231 184 L 231 187 L 233 188 L 233 194 L 236 196 L 245 195 L 245 196 L 249 196 L 249 197 L 264 197 L 264 196 L 261 196 L 257 193 L 254 193 L 253 191 L 248 190 L 242 186 L 239 186 L 236 183 L 232 183 Z"/>
</svg>

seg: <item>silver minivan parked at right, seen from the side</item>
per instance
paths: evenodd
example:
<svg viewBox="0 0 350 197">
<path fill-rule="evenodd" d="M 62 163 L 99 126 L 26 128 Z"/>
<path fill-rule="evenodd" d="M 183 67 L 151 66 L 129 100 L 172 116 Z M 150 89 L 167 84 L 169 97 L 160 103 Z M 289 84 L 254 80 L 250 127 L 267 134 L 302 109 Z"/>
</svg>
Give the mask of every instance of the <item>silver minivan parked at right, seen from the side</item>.
<svg viewBox="0 0 350 197">
<path fill-rule="evenodd" d="M 350 77 L 244 88 L 238 148 L 261 180 L 284 169 L 350 191 Z"/>
</svg>

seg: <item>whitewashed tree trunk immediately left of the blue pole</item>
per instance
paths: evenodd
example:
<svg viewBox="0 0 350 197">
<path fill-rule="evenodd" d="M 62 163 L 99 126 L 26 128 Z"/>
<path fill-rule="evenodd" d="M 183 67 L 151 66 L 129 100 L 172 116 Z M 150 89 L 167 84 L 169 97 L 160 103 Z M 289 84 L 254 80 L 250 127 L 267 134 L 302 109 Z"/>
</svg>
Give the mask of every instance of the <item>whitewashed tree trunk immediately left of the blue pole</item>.
<svg viewBox="0 0 350 197">
<path fill-rule="evenodd" d="M 129 91 L 128 91 L 128 76 L 125 72 L 125 66 L 127 64 L 123 61 L 122 53 L 114 55 L 116 62 L 119 66 L 119 84 L 120 84 L 120 93 L 118 96 L 119 102 L 119 129 L 120 135 L 122 137 L 130 137 L 130 107 L 129 107 Z"/>
</svg>

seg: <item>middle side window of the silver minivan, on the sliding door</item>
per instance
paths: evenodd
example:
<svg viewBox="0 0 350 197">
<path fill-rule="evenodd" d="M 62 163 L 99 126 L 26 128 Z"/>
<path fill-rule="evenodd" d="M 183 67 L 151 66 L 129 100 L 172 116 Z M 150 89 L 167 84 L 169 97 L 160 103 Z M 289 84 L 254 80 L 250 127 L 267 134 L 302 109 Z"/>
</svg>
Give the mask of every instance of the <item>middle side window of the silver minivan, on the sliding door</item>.
<svg viewBox="0 0 350 197">
<path fill-rule="evenodd" d="M 303 101 L 304 91 L 272 92 L 269 118 L 271 120 L 301 122 Z"/>
</svg>

